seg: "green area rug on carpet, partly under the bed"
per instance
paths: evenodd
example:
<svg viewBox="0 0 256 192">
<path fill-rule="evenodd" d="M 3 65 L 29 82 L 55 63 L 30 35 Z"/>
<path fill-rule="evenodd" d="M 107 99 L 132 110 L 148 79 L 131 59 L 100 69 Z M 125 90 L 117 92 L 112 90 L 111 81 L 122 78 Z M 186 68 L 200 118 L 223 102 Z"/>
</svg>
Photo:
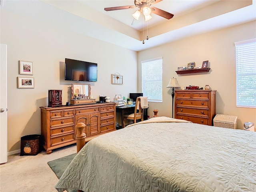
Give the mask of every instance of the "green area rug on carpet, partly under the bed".
<svg viewBox="0 0 256 192">
<path fill-rule="evenodd" d="M 70 162 L 76 156 L 76 153 L 58 158 L 56 160 L 49 161 L 47 164 L 50 166 L 52 171 L 56 174 L 56 176 L 60 179 Z M 67 190 L 68 192 L 76 192 L 77 190 Z"/>
</svg>

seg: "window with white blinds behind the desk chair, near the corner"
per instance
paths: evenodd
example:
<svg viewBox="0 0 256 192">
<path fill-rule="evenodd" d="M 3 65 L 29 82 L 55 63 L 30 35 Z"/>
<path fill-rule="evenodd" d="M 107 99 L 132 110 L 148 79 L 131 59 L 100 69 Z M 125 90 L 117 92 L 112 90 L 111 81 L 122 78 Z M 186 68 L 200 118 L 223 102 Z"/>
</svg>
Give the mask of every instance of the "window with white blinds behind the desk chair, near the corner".
<svg viewBox="0 0 256 192">
<path fill-rule="evenodd" d="M 162 57 L 141 62 L 142 93 L 149 102 L 162 102 L 162 65 Z"/>
</svg>

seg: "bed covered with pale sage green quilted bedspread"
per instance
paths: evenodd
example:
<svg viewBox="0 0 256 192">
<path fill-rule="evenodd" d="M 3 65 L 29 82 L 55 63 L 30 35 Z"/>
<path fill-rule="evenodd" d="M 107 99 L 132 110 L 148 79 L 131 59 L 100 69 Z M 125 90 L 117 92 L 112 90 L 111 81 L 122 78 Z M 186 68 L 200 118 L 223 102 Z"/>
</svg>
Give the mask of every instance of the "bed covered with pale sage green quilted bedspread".
<svg viewBox="0 0 256 192">
<path fill-rule="evenodd" d="M 155 117 L 92 139 L 55 188 L 256 192 L 256 132 Z"/>
</svg>

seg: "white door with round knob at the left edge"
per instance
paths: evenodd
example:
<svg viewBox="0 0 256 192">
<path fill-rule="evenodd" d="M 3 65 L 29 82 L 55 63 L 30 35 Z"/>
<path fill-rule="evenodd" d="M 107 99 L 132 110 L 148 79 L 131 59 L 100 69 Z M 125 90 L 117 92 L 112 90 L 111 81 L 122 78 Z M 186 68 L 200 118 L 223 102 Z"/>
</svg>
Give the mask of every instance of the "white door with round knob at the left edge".
<svg viewBox="0 0 256 192">
<path fill-rule="evenodd" d="M 7 45 L 0 47 L 0 163 L 7 162 Z"/>
</svg>

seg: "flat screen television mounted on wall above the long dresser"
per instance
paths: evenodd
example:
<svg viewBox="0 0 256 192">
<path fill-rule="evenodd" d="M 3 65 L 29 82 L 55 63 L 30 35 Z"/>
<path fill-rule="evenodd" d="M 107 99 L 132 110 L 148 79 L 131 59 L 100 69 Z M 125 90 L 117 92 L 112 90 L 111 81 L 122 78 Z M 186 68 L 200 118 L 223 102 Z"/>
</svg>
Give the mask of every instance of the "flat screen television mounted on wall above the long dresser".
<svg viewBox="0 0 256 192">
<path fill-rule="evenodd" d="M 65 58 L 65 80 L 97 82 L 97 63 Z"/>
</svg>

